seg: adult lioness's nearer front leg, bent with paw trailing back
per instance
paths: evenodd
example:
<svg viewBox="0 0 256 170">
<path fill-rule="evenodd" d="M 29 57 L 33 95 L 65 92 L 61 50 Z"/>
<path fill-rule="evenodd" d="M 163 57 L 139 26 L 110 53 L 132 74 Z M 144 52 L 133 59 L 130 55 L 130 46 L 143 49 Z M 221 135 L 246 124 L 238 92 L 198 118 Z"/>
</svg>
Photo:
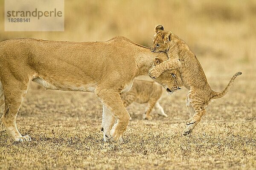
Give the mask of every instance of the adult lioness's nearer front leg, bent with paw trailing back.
<svg viewBox="0 0 256 170">
<path fill-rule="evenodd" d="M 116 124 L 113 125 L 111 129 L 110 136 L 108 136 L 111 141 L 116 142 L 117 140 L 121 139 L 122 133 L 124 133 L 124 131 L 126 130 L 126 127 L 129 123 L 130 115 L 126 111 L 125 106 L 122 103 L 119 91 L 113 89 L 97 88 L 95 90 L 95 93 L 105 105 L 105 107 L 108 109 L 108 111 L 113 113 L 113 116 L 115 116 L 115 118 L 117 119 Z M 111 118 L 106 117 L 105 119 L 107 120 Z"/>
</svg>

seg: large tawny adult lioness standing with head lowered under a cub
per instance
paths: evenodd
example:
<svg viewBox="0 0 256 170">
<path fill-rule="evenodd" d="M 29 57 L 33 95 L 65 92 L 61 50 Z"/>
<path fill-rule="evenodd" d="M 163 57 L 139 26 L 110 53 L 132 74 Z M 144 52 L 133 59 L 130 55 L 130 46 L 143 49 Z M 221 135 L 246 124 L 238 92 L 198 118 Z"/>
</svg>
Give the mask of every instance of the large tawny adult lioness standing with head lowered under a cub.
<svg viewBox="0 0 256 170">
<path fill-rule="evenodd" d="M 15 141 L 31 140 L 17 130 L 16 116 L 33 81 L 46 89 L 95 92 L 103 103 L 104 140 L 117 141 L 130 118 L 120 94 L 131 88 L 135 77 L 147 75 L 153 62 L 166 59 L 165 53 L 152 53 L 125 37 L 106 42 L 32 38 L 0 42 L 0 105 L 5 103 L 2 122 Z M 160 76 L 156 81 L 170 92 L 168 79 Z"/>
</svg>

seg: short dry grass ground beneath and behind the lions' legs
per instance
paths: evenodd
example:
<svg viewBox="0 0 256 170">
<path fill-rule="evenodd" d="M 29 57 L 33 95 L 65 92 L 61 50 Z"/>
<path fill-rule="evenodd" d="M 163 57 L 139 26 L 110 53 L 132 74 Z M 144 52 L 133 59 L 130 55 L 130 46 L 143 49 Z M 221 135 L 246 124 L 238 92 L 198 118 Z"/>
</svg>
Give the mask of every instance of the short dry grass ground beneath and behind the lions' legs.
<svg viewBox="0 0 256 170">
<path fill-rule="evenodd" d="M 32 142 L 13 142 L 2 126 L 0 169 L 255 169 L 256 93 L 243 88 L 246 79 L 238 77 L 227 96 L 209 105 L 190 137 L 182 136 L 185 89 L 160 102 L 168 118 L 153 111 L 152 121 L 143 120 L 144 105 L 132 104 L 123 143 L 103 142 L 102 105 L 94 94 L 32 84 L 17 118 Z"/>
</svg>

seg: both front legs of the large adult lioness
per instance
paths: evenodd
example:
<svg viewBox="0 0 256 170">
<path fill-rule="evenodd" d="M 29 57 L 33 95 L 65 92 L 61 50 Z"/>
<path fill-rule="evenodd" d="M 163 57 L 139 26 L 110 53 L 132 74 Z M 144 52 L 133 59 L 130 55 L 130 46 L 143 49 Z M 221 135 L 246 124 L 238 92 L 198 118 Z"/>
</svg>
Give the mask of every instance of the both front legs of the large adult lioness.
<svg viewBox="0 0 256 170">
<path fill-rule="evenodd" d="M 104 105 L 105 113 L 102 119 L 102 127 L 104 132 L 105 141 L 116 142 L 122 140 L 122 134 L 127 128 L 129 123 L 130 115 L 126 111 L 125 106 L 122 103 L 119 91 L 111 88 L 96 88 L 96 95 L 102 101 Z M 111 115 L 112 114 L 112 115 Z M 117 119 L 116 124 L 113 125 L 113 116 Z M 112 127 L 113 125 L 113 127 Z M 112 129 L 111 129 L 112 127 Z M 111 130 L 110 130 L 111 129 Z M 110 135 L 109 134 L 110 130 Z M 108 140 L 106 139 L 108 138 Z"/>
</svg>

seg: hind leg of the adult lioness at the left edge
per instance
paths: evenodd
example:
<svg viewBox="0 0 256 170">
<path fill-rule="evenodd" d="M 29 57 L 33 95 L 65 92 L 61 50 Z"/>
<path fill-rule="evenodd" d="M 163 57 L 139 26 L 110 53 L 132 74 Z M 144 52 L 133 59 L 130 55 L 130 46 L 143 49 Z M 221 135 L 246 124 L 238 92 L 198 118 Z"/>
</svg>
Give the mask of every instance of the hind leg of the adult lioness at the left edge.
<svg viewBox="0 0 256 170">
<path fill-rule="evenodd" d="M 29 136 L 22 136 L 16 126 L 16 117 L 20 109 L 20 105 L 27 93 L 28 84 L 13 81 L 13 85 L 3 84 L 5 91 L 5 111 L 1 117 L 7 132 L 15 141 L 31 141 Z"/>
</svg>

